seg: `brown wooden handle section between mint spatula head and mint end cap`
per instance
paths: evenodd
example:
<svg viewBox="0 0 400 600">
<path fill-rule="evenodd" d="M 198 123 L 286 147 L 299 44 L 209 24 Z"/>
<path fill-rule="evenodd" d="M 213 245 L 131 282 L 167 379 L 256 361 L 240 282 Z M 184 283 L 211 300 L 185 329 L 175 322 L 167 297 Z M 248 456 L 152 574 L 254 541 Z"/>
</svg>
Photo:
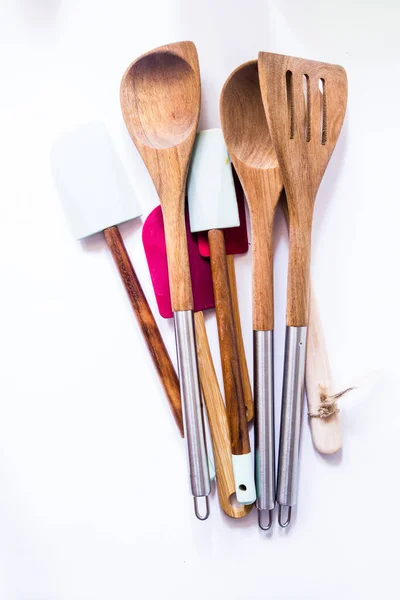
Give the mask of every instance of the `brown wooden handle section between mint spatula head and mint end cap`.
<svg viewBox="0 0 400 600">
<path fill-rule="evenodd" d="M 232 454 L 248 454 L 250 440 L 223 232 L 218 229 L 209 231 L 208 243 Z"/>
</svg>

